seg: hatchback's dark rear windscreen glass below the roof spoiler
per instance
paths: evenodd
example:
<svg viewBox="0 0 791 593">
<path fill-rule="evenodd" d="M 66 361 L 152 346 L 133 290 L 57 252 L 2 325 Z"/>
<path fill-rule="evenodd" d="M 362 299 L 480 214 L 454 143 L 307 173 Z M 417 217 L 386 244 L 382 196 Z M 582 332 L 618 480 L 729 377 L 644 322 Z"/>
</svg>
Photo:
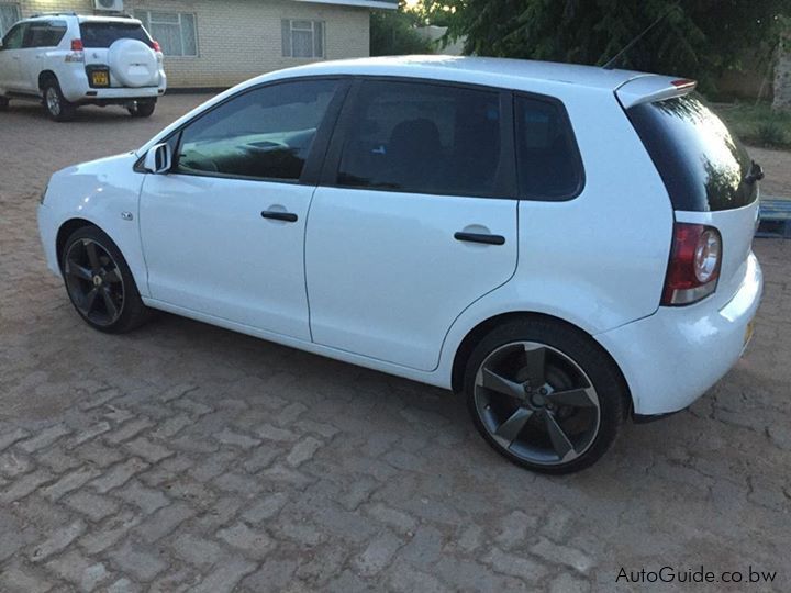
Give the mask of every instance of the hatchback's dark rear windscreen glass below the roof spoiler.
<svg viewBox="0 0 791 593">
<path fill-rule="evenodd" d="M 753 167 L 742 143 L 697 93 L 626 111 L 650 155 L 673 210 L 706 212 L 753 203 Z"/>
</svg>

